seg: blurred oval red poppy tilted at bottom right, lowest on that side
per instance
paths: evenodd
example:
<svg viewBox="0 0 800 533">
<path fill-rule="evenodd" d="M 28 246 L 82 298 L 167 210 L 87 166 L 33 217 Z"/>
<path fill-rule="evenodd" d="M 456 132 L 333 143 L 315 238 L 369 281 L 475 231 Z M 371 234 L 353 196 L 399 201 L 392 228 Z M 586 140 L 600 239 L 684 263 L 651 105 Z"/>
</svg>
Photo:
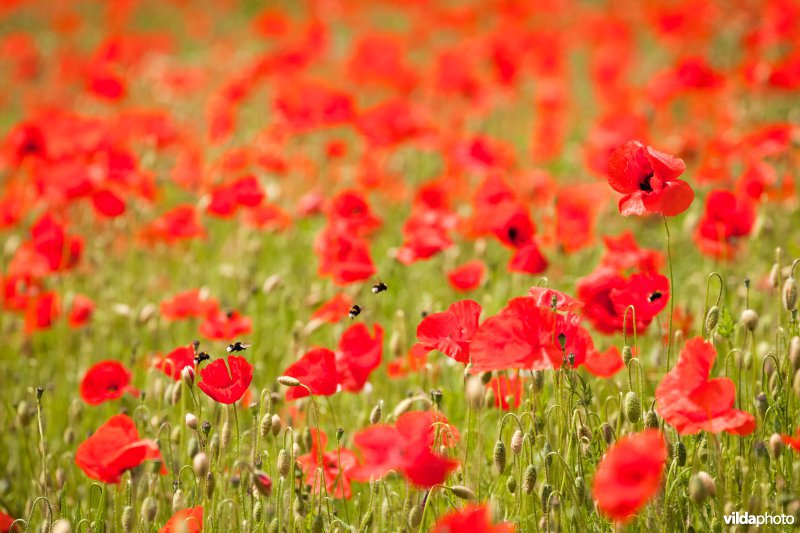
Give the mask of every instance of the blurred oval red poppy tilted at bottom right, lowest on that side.
<svg viewBox="0 0 800 533">
<path fill-rule="evenodd" d="M 667 445 L 657 429 L 621 438 L 597 465 L 597 507 L 609 519 L 627 522 L 658 492 L 666 461 Z"/>
</svg>

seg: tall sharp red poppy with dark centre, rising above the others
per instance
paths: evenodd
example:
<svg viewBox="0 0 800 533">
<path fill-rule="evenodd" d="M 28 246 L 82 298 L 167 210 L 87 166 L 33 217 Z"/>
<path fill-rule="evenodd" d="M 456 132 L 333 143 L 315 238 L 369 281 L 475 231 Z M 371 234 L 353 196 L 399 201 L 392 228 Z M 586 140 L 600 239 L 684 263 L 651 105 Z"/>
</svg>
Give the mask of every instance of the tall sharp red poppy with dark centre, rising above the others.
<svg viewBox="0 0 800 533">
<path fill-rule="evenodd" d="M 608 158 L 608 183 L 625 195 L 619 202 L 620 214 L 675 216 L 689 209 L 694 191 L 678 179 L 685 170 L 683 160 L 639 141 L 614 150 Z"/>
</svg>

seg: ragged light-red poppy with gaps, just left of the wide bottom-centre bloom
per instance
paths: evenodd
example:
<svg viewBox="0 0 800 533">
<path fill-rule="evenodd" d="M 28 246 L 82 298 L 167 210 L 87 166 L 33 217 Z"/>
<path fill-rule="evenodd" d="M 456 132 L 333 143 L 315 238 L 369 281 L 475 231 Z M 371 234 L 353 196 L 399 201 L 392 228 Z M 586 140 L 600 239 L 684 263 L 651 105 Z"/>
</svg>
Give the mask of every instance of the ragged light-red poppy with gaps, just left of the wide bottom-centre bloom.
<svg viewBox="0 0 800 533">
<path fill-rule="evenodd" d="M 324 432 L 318 434 L 316 429 L 312 429 L 311 450 L 307 454 L 297 457 L 297 462 L 300 463 L 308 483 L 314 482 L 317 468 L 321 467 L 327 493 L 333 495 L 334 498 L 350 499 L 352 491 L 348 472 L 356 467 L 358 459 L 347 448 L 337 447 L 336 450 L 325 451 L 327 445 L 327 435 Z M 322 452 L 322 464 L 319 462 L 320 451 Z M 321 488 L 319 482 L 314 485 L 316 492 Z"/>
</svg>

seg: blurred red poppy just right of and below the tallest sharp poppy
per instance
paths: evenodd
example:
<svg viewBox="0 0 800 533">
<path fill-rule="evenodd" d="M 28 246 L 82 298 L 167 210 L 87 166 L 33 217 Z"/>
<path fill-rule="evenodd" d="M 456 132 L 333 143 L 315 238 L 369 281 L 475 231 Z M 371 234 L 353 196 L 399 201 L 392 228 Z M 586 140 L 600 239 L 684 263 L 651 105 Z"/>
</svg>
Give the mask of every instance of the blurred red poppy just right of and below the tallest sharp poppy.
<svg viewBox="0 0 800 533">
<path fill-rule="evenodd" d="M 753 202 L 729 191 L 712 191 L 706 198 L 703 218 L 695 231 L 700 251 L 717 259 L 732 259 L 737 240 L 753 230 L 756 209 Z"/>
</svg>

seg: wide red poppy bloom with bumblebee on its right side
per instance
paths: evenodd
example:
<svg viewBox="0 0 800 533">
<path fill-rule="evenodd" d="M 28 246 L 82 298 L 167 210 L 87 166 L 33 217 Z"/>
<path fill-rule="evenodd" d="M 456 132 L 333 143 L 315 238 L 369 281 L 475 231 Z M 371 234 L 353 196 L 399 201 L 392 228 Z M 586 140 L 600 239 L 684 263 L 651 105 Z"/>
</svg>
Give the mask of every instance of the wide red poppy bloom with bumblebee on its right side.
<svg viewBox="0 0 800 533">
<path fill-rule="evenodd" d="M 626 322 L 628 333 L 632 333 L 634 313 L 628 311 L 625 319 L 625 310 L 632 305 L 636 310 L 636 330 L 641 333 L 667 305 L 669 280 L 656 273 L 625 278 L 600 267 L 578 281 L 577 295 L 585 304 L 584 316 L 598 331 L 621 332 Z"/>
</svg>

